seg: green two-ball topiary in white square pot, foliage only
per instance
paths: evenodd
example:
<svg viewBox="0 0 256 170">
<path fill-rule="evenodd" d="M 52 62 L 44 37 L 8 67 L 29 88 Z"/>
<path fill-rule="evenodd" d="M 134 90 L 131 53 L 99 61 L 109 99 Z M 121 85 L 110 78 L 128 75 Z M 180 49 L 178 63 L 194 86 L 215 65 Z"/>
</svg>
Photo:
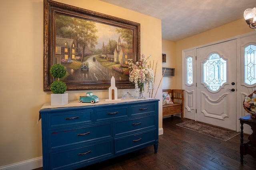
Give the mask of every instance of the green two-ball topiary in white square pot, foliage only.
<svg viewBox="0 0 256 170">
<path fill-rule="evenodd" d="M 60 78 L 64 77 L 66 75 L 66 68 L 61 64 L 54 64 L 50 68 L 50 73 L 52 77 L 58 78 L 58 80 L 55 80 L 52 82 L 50 90 L 54 94 L 63 94 L 67 90 L 67 86 L 64 82 L 60 81 Z"/>
</svg>

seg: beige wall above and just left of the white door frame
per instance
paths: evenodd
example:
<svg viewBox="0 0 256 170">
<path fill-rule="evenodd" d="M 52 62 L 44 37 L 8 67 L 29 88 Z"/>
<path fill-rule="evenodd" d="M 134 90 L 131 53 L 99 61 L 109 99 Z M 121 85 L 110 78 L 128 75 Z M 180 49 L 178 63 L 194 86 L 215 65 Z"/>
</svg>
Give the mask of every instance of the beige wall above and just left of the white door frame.
<svg viewBox="0 0 256 170">
<path fill-rule="evenodd" d="M 249 26 L 246 24 L 245 20 L 242 18 L 240 20 L 222 25 L 215 29 L 205 31 L 203 33 L 194 35 L 192 37 L 188 37 L 186 39 L 182 39 L 180 41 L 176 41 L 175 42 L 175 45 L 176 45 L 176 48 L 175 48 L 175 53 L 176 53 L 175 74 L 176 75 L 175 76 L 179 77 L 179 78 L 176 78 L 176 88 L 182 88 L 182 50 L 196 47 L 199 45 L 212 43 L 222 39 L 227 39 L 230 37 L 234 37 L 236 35 L 248 33 L 250 31 L 254 31 L 254 30 L 250 29 Z"/>
</svg>

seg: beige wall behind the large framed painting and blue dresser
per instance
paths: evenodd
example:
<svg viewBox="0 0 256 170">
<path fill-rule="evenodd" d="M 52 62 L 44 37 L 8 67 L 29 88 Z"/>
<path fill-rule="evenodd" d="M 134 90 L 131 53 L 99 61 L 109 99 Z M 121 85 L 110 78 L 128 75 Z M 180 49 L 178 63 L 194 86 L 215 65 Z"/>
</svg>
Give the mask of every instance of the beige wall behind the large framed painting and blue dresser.
<svg viewBox="0 0 256 170">
<path fill-rule="evenodd" d="M 98 0 L 58 2 L 140 23 L 141 53 L 152 55 L 150 60 L 158 61 L 156 84 L 159 84 L 162 74 L 160 20 Z M 43 92 L 43 0 L 1 1 L 0 14 L 0 166 L 4 166 L 42 156 L 38 111 L 50 102 L 51 92 Z M 86 92 L 68 91 L 69 100 L 78 100 Z M 100 98 L 108 98 L 107 90 L 93 92 Z M 162 98 L 161 92 L 162 84 L 156 98 Z M 118 90 L 119 97 L 124 93 L 125 90 Z"/>
</svg>

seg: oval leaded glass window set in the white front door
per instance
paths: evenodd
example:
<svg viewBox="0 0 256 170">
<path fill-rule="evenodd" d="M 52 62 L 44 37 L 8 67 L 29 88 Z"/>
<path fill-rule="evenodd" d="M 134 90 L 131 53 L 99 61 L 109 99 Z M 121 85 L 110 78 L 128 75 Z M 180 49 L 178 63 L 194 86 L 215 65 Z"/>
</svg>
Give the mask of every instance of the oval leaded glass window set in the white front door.
<svg viewBox="0 0 256 170">
<path fill-rule="evenodd" d="M 211 91 L 217 91 L 227 81 L 227 61 L 213 53 L 203 63 L 203 82 Z"/>
</svg>

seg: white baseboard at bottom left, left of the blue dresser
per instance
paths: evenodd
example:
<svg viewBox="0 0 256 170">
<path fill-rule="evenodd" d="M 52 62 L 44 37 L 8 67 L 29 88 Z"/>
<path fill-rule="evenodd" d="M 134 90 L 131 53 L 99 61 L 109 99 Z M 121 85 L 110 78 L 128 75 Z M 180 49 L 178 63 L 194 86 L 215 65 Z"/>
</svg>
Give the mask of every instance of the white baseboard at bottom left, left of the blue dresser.
<svg viewBox="0 0 256 170">
<path fill-rule="evenodd" d="M 43 157 L 33 158 L 29 160 L 24 160 L 14 164 L 9 164 L 6 166 L 1 166 L 0 170 L 33 170 L 43 166 Z"/>
</svg>

